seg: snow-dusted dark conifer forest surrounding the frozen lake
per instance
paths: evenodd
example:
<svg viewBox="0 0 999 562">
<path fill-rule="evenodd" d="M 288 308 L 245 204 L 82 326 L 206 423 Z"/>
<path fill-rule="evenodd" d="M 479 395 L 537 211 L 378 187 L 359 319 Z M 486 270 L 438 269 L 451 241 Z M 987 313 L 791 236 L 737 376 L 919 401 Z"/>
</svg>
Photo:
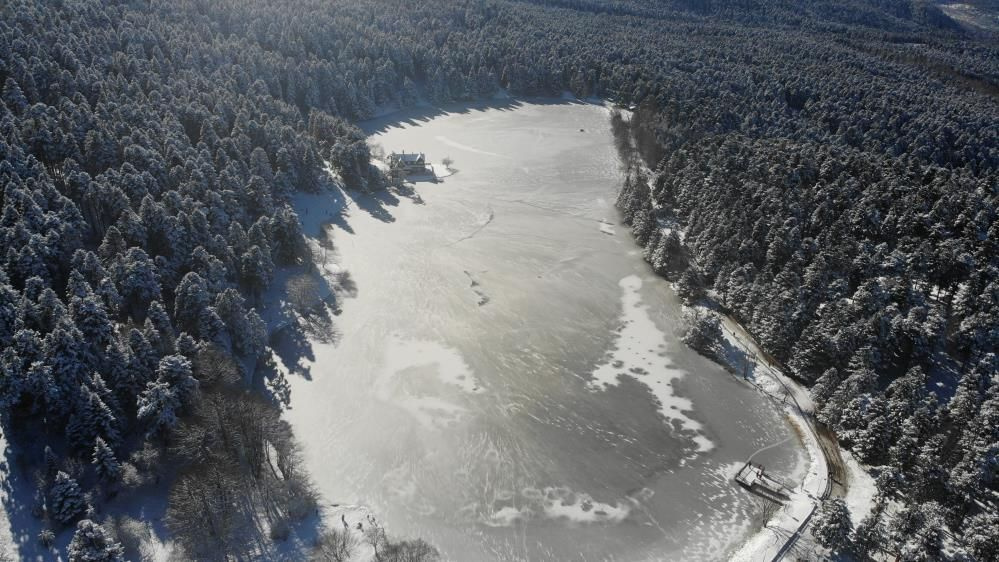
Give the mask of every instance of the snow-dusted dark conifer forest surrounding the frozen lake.
<svg viewBox="0 0 999 562">
<path fill-rule="evenodd" d="M 715 295 L 879 467 L 903 509 L 855 554 L 999 556 L 999 44 L 933 3 L 0 14 L 0 414 L 46 526 L 25 540 L 121 558 L 101 513 L 161 477 L 190 558 L 287 536 L 316 497 L 255 373 L 275 272 L 312 267 L 291 196 L 330 170 L 381 189 L 355 126 L 376 114 L 569 91 L 634 110 L 619 201 L 653 267 Z"/>
</svg>

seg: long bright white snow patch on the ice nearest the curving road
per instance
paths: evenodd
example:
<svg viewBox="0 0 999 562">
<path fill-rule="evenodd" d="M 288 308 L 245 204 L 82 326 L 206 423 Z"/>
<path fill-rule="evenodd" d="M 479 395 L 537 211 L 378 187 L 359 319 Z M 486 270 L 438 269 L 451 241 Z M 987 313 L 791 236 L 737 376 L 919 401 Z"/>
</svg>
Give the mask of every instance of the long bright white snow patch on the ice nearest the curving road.
<svg viewBox="0 0 999 562">
<path fill-rule="evenodd" d="M 704 427 L 683 413 L 693 410 L 693 402 L 677 396 L 673 391 L 674 381 L 683 378 L 686 373 L 673 367 L 665 357 L 666 335 L 656 327 L 649 315 L 648 305 L 642 304 L 641 278 L 630 275 L 621 279 L 618 285 L 623 293 L 623 326 L 618 332 L 610 360 L 593 372 L 590 388 L 603 390 L 616 386 L 622 376 L 634 378 L 652 391 L 663 417 L 679 422 L 683 429 L 694 433 L 698 451 L 710 451 L 714 443 L 704 436 Z"/>
</svg>

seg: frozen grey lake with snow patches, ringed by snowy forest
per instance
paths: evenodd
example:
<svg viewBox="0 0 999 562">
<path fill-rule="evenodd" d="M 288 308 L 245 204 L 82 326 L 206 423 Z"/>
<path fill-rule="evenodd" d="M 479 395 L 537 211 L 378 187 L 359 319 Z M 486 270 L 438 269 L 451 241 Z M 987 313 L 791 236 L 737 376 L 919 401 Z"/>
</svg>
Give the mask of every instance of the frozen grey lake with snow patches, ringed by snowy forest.
<svg viewBox="0 0 999 562">
<path fill-rule="evenodd" d="M 791 437 L 678 339 L 680 305 L 613 207 L 607 110 L 521 103 L 367 123 L 444 173 L 423 203 L 333 226 L 356 295 L 291 376 L 287 418 L 331 501 L 451 560 L 724 558 L 760 507 L 731 480 Z M 794 440 L 756 460 L 784 475 Z"/>
</svg>

